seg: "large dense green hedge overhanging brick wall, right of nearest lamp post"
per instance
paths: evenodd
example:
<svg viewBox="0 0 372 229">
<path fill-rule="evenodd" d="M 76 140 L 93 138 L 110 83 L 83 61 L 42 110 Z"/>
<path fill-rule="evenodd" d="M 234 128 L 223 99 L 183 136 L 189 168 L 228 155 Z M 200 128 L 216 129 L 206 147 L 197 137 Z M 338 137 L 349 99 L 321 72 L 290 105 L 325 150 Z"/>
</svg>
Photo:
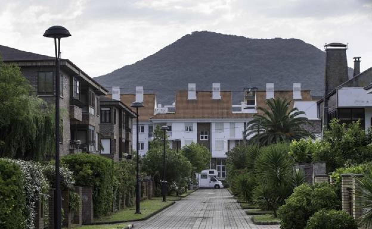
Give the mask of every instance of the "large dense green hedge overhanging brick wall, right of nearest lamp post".
<svg viewBox="0 0 372 229">
<path fill-rule="evenodd" d="M 93 154 L 71 154 L 61 158 L 74 174 L 77 186 L 93 190 L 94 217 L 107 215 L 113 204 L 113 161 Z"/>
</svg>

